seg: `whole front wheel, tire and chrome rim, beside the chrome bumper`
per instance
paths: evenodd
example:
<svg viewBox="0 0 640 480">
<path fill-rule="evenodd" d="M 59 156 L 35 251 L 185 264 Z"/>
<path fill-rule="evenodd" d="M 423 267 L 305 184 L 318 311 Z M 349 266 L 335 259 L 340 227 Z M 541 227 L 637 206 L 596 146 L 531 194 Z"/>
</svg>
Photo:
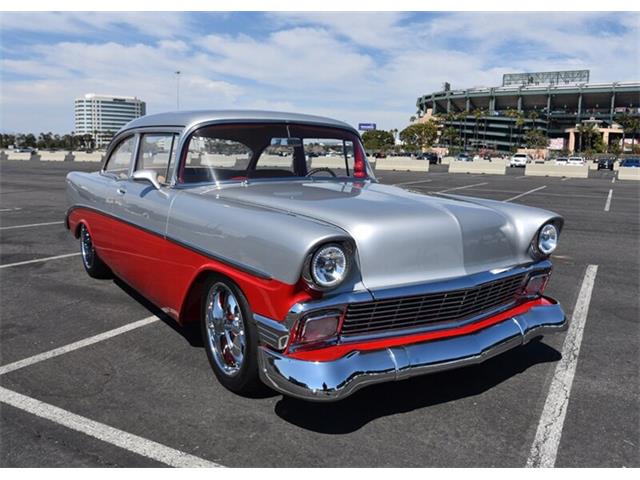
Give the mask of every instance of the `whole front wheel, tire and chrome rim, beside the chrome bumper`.
<svg viewBox="0 0 640 480">
<path fill-rule="evenodd" d="M 201 328 L 218 381 L 240 395 L 263 388 L 258 375 L 258 333 L 249 304 L 232 282 L 211 276 L 205 284 Z"/>
</svg>

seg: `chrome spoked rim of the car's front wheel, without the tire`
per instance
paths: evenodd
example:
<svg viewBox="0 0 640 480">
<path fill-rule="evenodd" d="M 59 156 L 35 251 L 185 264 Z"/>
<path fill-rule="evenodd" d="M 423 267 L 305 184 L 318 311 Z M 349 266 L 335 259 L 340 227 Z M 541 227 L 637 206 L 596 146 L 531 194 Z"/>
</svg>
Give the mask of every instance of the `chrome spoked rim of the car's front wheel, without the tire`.
<svg viewBox="0 0 640 480">
<path fill-rule="evenodd" d="M 215 283 L 209 289 L 205 322 L 207 341 L 218 369 L 229 377 L 237 375 L 247 339 L 238 300 L 224 283 Z"/>
</svg>

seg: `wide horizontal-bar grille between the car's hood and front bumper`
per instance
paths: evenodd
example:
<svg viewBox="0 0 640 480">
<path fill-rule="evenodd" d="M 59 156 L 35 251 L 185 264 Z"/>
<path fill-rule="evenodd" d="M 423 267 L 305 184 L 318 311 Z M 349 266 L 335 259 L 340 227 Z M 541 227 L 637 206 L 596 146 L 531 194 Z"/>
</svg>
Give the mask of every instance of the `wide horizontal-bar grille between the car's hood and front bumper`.
<svg viewBox="0 0 640 480">
<path fill-rule="evenodd" d="M 347 307 L 342 334 L 363 335 L 464 320 L 513 302 L 526 274 L 471 288 L 354 303 Z"/>
</svg>

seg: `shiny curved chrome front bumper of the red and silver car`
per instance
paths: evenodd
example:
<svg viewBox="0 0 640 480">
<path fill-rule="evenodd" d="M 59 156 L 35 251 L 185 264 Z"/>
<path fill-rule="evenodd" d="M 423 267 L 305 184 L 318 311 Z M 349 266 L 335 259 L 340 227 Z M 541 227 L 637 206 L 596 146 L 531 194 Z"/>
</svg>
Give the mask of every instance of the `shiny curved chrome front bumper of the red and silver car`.
<svg viewBox="0 0 640 480">
<path fill-rule="evenodd" d="M 287 357 L 259 347 L 262 380 L 285 395 L 314 401 L 336 401 L 374 383 L 403 380 L 483 362 L 531 339 L 567 329 L 562 307 L 532 307 L 472 334 L 389 347 L 354 351 L 329 362 Z"/>
</svg>

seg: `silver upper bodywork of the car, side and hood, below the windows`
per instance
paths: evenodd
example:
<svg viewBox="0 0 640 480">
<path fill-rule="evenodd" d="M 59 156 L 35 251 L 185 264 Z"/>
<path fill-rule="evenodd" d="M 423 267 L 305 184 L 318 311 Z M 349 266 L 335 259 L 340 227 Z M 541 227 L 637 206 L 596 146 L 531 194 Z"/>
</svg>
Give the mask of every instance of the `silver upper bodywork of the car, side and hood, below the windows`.
<svg viewBox="0 0 640 480">
<path fill-rule="evenodd" d="M 355 271 L 338 292 L 529 263 L 536 231 L 557 217 L 522 205 L 421 195 L 372 182 L 255 181 L 155 190 L 78 172 L 67 181 L 69 206 L 103 211 L 287 284 L 299 280 L 304 259 L 317 245 L 353 239 Z"/>
</svg>

